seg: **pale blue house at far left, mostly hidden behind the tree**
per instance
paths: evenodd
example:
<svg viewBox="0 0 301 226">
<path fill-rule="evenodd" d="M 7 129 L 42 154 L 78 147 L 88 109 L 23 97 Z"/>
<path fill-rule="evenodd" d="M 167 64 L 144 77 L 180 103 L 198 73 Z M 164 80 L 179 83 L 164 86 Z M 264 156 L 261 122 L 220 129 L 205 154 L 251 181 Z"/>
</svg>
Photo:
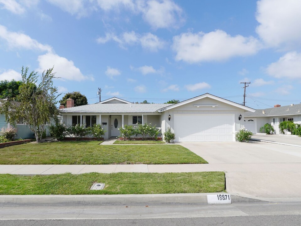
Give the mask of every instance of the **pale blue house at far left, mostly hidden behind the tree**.
<svg viewBox="0 0 301 226">
<path fill-rule="evenodd" d="M 5 100 L 5 99 L 1 99 L 1 100 Z M 0 103 L 0 107 L 1 107 L 1 103 Z M 5 115 L 0 114 L 0 130 L 4 127 L 8 127 L 11 126 L 9 123 L 7 123 L 5 121 Z M 14 126 L 15 128 L 17 128 L 18 132 L 17 132 L 17 136 L 16 138 L 35 138 L 35 134 L 34 132 L 32 132 L 32 130 L 30 129 L 30 127 L 26 124 L 24 124 L 23 119 L 20 119 L 17 123 L 16 126 Z M 46 135 L 50 135 L 48 128 L 46 128 Z"/>
</svg>

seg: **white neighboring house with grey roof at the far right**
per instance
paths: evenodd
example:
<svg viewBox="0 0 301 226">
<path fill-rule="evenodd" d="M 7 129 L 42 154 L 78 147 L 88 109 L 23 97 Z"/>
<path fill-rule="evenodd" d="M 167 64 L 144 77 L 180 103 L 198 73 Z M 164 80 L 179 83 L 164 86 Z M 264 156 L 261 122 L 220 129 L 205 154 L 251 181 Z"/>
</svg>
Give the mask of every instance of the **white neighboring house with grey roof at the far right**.
<svg viewBox="0 0 301 226">
<path fill-rule="evenodd" d="M 260 127 L 266 123 L 271 124 L 276 134 L 279 134 L 279 123 L 282 121 L 293 121 L 301 123 L 301 104 L 296 105 L 274 105 L 273 108 L 258 109 L 255 112 L 245 113 L 245 127 L 253 133 L 260 132 Z"/>
</svg>

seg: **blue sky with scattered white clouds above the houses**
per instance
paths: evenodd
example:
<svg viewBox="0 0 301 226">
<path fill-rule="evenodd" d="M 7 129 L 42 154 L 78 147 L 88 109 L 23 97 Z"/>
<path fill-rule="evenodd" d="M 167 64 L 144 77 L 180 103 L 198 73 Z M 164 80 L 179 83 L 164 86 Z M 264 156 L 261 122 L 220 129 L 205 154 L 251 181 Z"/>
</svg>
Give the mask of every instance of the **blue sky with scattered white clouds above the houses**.
<svg viewBox="0 0 301 226">
<path fill-rule="evenodd" d="M 59 92 L 299 104 L 301 1 L 0 0 L 0 80 L 54 65 Z M 62 94 L 62 95 L 63 95 Z"/>
</svg>

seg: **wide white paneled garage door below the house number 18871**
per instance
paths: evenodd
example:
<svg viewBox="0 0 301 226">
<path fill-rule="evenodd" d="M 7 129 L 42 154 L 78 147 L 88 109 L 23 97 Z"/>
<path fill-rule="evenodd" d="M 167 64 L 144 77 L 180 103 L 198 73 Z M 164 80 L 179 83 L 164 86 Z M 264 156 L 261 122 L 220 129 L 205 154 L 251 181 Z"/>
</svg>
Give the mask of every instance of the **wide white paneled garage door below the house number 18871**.
<svg viewBox="0 0 301 226">
<path fill-rule="evenodd" d="M 234 141 L 234 115 L 175 114 L 175 141 Z"/>
</svg>

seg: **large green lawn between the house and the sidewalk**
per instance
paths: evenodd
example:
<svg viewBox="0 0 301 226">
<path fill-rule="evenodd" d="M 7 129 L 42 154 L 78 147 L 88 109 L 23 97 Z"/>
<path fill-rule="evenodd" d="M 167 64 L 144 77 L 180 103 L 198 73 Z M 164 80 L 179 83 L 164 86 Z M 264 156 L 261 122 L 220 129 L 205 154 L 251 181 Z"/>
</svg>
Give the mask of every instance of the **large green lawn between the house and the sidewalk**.
<svg viewBox="0 0 301 226">
<path fill-rule="evenodd" d="M 27 143 L 0 149 L 0 164 L 207 163 L 181 145 L 99 145 L 98 141 Z"/>
</svg>

